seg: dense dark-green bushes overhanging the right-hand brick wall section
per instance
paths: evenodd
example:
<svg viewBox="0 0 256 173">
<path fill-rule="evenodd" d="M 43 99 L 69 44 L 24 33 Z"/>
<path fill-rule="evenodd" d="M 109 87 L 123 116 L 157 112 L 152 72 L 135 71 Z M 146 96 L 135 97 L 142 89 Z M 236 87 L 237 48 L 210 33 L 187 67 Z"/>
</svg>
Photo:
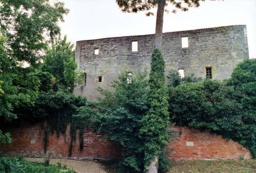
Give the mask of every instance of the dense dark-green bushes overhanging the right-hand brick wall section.
<svg viewBox="0 0 256 173">
<path fill-rule="evenodd" d="M 256 156 L 256 60 L 239 64 L 227 81 L 205 79 L 169 88 L 170 113 L 181 126 L 233 139 Z"/>
</svg>

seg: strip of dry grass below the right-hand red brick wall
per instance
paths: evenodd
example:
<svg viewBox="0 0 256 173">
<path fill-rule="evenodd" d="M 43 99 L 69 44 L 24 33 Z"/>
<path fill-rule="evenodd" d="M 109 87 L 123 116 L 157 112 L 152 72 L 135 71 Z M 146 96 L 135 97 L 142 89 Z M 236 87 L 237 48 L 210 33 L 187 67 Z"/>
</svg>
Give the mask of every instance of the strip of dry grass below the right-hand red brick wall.
<svg viewBox="0 0 256 173">
<path fill-rule="evenodd" d="M 172 161 L 169 173 L 256 173 L 256 160 Z"/>
</svg>

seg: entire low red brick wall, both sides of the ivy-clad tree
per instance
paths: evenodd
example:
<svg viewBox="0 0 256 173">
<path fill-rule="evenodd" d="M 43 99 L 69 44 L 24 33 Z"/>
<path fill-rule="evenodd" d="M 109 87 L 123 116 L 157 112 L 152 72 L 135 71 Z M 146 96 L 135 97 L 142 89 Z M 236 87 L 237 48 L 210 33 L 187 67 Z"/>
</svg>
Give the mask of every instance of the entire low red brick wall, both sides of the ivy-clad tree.
<svg viewBox="0 0 256 173">
<path fill-rule="evenodd" d="M 175 128 L 179 129 L 179 128 Z M 5 155 L 22 155 L 31 157 L 44 156 L 44 131 L 40 125 L 16 128 L 12 133 L 13 142 L 0 146 L 0 153 Z M 251 158 L 249 150 L 232 140 L 227 141 L 219 135 L 210 134 L 191 128 L 181 128 L 181 135 L 167 146 L 168 156 L 176 160 L 192 159 L 238 159 Z M 121 156 L 118 146 L 109 143 L 92 131 L 84 133 L 84 149 L 79 151 L 78 135 L 73 146 L 73 153 L 68 157 L 70 144 L 70 128 L 66 135 L 57 138 L 56 134 L 49 137 L 47 154 L 52 158 L 70 159 L 113 159 Z"/>
</svg>

